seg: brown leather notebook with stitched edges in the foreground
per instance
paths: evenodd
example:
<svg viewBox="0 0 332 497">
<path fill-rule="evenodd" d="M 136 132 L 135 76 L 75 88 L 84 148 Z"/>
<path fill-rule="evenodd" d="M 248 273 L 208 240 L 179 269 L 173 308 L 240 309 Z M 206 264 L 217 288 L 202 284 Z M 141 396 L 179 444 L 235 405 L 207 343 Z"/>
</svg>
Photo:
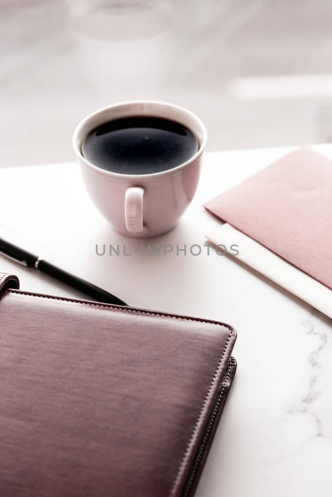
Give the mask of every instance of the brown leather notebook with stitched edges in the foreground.
<svg viewBox="0 0 332 497">
<path fill-rule="evenodd" d="M 228 325 L 18 290 L 0 273 L 0 495 L 193 496 Z"/>
</svg>

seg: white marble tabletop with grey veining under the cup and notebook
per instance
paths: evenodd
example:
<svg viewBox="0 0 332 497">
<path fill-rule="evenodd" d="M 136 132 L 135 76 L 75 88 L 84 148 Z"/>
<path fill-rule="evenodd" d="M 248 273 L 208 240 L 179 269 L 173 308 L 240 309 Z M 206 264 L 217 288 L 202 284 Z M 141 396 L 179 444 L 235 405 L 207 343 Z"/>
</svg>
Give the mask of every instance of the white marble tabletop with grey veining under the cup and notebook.
<svg viewBox="0 0 332 497">
<path fill-rule="evenodd" d="M 332 146 L 315 148 L 332 157 Z M 1 237 L 130 305 L 237 329 L 238 370 L 197 497 L 332 495 L 332 321 L 234 257 L 208 256 L 206 248 L 199 256 L 146 254 L 147 243 L 203 246 L 219 221 L 202 203 L 290 150 L 207 154 L 197 195 L 177 228 L 131 256 L 96 254 L 96 244 L 122 249 L 128 240 L 96 211 L 78 166 L 0 169 Z M 16 273 L 23 290 L 81 297 L 4 257 L 0 270 Z"/>
</svg>

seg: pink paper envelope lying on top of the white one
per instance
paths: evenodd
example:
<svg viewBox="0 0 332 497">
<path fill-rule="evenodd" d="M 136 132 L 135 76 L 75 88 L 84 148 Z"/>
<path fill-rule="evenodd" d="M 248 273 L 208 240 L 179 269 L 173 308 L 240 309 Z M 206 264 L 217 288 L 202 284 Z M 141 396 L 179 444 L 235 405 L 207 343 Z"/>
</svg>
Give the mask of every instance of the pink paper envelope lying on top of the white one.
<svg viewBox="0 0 332 497">
<path fill-rule="evenodd" d="M 332 289 L 332 161 L 326 157 L 303 147 L 205 207 Z"/>
</svg>

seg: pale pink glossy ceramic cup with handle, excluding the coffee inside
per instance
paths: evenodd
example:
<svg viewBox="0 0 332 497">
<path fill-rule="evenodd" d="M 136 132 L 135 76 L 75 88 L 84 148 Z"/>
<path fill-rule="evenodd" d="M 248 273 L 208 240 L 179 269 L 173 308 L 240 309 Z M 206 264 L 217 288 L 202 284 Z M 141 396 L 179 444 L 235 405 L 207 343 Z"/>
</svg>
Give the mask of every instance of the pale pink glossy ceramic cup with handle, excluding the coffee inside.
<svg viewBox="0 0 332 497">
<path fill-rule="evenodd" d="M 82 155 L 82 143 L 93 129 L 129 116 L 161 117 L 189 128 L 199 149 L 187 162 L 152 174 L 119 174 L 101 169 Z M 89 195 L 113 229 L 122 235 L 155 237 L 174 228 L 190 204 L 198 184 L 207 131 L 189 110 L 165 102 L 130 101 L 104 107 L 77 126 L 73 146 Z"/>
</svg>

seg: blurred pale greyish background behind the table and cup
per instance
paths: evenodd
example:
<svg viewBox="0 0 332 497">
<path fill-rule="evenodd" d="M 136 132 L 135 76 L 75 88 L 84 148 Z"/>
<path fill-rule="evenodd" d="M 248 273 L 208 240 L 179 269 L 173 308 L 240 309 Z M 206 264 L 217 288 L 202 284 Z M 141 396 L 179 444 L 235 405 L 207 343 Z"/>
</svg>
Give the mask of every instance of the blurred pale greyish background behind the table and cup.
<svg viewBox="0 0 332 497">
<path fill-rule="evenodd" d="M 330 0 L 0 0 L 0 166 L 74 160 L 110 103 L 196 112 L 208 150 L 332 141 Z"/>
</svg>

